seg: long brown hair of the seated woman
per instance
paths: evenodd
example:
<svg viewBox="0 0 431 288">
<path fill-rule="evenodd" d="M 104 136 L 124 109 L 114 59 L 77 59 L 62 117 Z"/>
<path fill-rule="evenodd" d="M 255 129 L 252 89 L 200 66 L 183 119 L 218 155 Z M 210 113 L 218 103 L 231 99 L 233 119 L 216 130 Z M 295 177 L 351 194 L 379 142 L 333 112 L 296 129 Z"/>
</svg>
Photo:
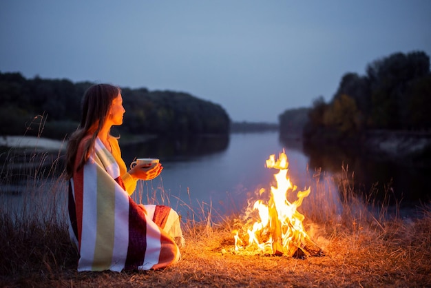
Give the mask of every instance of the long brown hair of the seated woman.
<svg viewBox="0 0 431 288">
<path fill-rule="evenodd" d="M 94 150 L 94 141 L 98 132 L 105 124 L 112 101 L 121 90 L 117 86 L 109 84 L 96 84 L 90 86 L 83 96 L 81 123 L 78 129 L 70 136 L 66 150 L 66 179 L 72 178 L 75 171 L 81 169 Z M 90 141 L 84 146 L 84 153 L 78 159 L 75 167 L 78 146 L 85 136 L 91 135 Z"/>
</svg>

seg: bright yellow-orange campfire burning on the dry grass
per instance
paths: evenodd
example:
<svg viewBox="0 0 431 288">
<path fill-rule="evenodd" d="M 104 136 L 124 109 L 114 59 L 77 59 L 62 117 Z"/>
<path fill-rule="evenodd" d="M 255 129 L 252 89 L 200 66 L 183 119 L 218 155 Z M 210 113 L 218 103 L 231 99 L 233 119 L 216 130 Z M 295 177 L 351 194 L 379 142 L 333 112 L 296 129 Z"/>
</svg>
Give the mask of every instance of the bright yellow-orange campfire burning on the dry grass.
<svg viewBox="0 0 431 288">
<path fill-rule="evenodd" d="M 279 169 L 274 175 L 277 187 L 271 186 L 268 203 L 257 200 L 253 211 L 257 210 L 260 220 L 247 223 L 241 231 L 235 233 L 236 254 L 273 254 L 276 256 L 323 256 L 323 251 L 308 237 L 302 220 L 304 215 L 297 211 L 304 197 L 310 194 L 310 188 L 297 192 L 297 200 L 290 203 L 288 193 L 295 192 L 297 187 L 287 178 L 288 161 L 284 152 L 277 161 L 275 155 L 266 160 L 266 167 Z M 260 195 L 264 189 L 260 190 Z"/>
</svg>

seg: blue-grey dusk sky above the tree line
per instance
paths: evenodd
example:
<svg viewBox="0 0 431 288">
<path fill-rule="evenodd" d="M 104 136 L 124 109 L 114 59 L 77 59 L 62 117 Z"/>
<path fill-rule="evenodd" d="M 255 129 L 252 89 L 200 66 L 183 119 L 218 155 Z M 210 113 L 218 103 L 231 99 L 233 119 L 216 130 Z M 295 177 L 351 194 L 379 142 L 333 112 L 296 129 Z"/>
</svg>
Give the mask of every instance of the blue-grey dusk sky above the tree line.
<svg viewBox="0 0 431 288">
<path fill-rule="evenodd" d="M 276 123 L 346 72 L 431 56 L 431 1 L 1 0 L 0 37 L 3 73 L 187 92 Z"/>
</svg>

